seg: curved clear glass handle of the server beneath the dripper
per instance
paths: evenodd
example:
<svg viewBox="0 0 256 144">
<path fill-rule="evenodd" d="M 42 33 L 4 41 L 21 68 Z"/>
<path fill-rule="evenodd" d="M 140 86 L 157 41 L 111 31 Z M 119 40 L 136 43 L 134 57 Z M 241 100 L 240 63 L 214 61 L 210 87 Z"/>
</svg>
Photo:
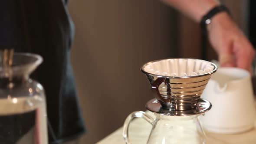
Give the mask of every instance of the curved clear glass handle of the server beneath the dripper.
<svg viewBox="0 0 256 144">
<path fill-rule="evenodd" d="M 154 124 L 154 118 L 146 114 L 144 111 L 135 111 L 132 112 L 128 117 L 125 119 L 125 124 L 123 128 L 123 138 L 125 139 L 125 144 L 131 144 L 131 141 L 128 136 L 128 128 L 131 120 L 133 118 L 143 118 L 144 120 L 148 121 L 150 124 Z"/>
</svg>

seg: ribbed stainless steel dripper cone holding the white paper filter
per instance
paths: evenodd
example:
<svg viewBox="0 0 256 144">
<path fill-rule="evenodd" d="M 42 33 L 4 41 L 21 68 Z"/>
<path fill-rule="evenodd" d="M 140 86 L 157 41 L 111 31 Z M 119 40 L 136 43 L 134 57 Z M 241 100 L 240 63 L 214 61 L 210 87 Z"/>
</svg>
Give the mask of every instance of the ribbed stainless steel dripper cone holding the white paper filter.
<svg viewBox="0 0 256 144">
<path fill-rule="evenodd" d="M 211 75 L 217 71 L 217 66 L 211 62 L 200 59 L 163 59 L 144 64 L 141 71 L 147 76 L 161 108 L 187 111 L 200 107 L 200 102 L 210 105 L 200 96 Z"/>
</svg>

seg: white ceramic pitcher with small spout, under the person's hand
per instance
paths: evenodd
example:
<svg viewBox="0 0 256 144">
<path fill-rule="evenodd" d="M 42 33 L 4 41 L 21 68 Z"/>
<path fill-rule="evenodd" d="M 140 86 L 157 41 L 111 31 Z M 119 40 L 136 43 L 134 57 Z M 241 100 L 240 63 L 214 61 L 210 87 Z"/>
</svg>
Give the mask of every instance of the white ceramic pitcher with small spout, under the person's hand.
<svg viewBox="0 0 256 144">
<path fill-rule="evenodd" d="M 200 119 L 212 132 L 234 134 L 254 128 L 256 110 L 250 74 L 238 68 L 220 68 L 208 82 L 202 98 L 213 105 Z"/>
</svg>

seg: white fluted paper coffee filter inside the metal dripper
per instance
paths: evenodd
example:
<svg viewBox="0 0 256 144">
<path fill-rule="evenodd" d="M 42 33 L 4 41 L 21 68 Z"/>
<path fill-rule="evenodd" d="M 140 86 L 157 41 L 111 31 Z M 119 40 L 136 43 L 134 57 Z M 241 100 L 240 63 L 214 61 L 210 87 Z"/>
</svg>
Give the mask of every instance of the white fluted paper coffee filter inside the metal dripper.
<svg viewBox="0 0 256 144">
<path fill-rule="evenodd" d="M 211 62 L 200 59 L 164 59 L 145 65 L 144 71 L 163 76 L 201 75 L 213 71 Z"/>
</svg>

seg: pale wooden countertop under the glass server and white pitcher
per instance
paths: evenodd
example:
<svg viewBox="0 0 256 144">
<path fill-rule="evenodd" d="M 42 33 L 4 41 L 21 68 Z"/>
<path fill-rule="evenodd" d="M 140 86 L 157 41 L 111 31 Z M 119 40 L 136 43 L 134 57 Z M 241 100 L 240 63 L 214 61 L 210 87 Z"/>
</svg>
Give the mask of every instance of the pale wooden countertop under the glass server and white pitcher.
<svg viewBox="0 0 256 144">
<path fill-rule="evenodd" d="M 152 113 L 147 111 L 151 116 Z M 146 144 L 151 131 L 151 124 L 142 118 L 136 118 L 130 124 L 129 137 L 132 144 Z M 240 134 L 214 134 L 207 132 L 209 144 L 256 144 L 256 128 Z M 125 144 L 122 127 L 99 141 L 97 144 Z"/>
</svg>

